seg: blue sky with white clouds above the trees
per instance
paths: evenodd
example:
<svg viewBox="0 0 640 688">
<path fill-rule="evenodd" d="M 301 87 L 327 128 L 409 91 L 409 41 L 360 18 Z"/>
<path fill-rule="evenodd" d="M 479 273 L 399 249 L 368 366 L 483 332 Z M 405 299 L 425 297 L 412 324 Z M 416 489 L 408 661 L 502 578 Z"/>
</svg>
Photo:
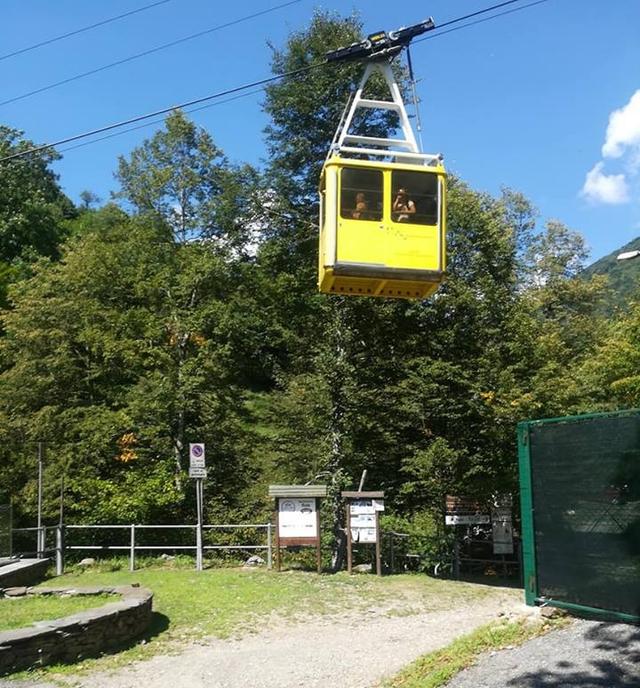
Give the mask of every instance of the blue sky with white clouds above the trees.
<svg viewBox="0 0 640 688">
<path fill-rule="evenodd" d="M 150 4 L 152 0 L 3 0 L 0 56 Z M 0 60 L 0 100 L 203 31 L 286 0 L 169 0 L 149 11 Z M 359 12 L 365 30 L 431 15 L 436 23 L 497 0 L 300 0 L 208 34 L 0 106 L 0 123 L 43 143 L 270 76 L 267 42 L 281 46 L 314 8 Z M 512 7 L 527 4 L 522 0 Z M 541 221 L 585 236 L 596 259 L 640 235 L 640 2 L 547 0 L 414 46 L 423 140 L 475 189 L 522 191 Z M 267 120 L 253 94 L 193 114 L 228 157 L 259 164 Z M 74 199 L 116 188 L 119 155 L 146 127 L 68 150 L 56 164 Z M 64 150 L 64 146 L 61 149 Z"/>
</svg>

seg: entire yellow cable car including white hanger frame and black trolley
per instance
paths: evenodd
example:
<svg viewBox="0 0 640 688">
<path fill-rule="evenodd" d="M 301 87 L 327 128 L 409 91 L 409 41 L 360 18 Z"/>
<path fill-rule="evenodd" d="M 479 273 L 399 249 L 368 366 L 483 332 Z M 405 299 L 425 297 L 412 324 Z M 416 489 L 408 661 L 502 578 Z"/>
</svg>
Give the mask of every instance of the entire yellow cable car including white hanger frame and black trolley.
<svg viewBox="0 0 640 688">
<path fill-rule="evenodd" d="M 391 63 L 432 19 L 381 31 L 327 54 L 327 61 L 366 62 L 347 103 L 320 179 L 320 291 L 329 294 L 425 298 L 445 271 L 446 173 L 439 154 L 422 153 Z M 409 60 L 411 73 L 411 62 Z M 389 100 L 365 97 L 374 74 Z M 411 74 L 412 76 L 412 74 Z M 402 137 L 352 133 L 364 109 L 395 112 Z"/>
</svg>

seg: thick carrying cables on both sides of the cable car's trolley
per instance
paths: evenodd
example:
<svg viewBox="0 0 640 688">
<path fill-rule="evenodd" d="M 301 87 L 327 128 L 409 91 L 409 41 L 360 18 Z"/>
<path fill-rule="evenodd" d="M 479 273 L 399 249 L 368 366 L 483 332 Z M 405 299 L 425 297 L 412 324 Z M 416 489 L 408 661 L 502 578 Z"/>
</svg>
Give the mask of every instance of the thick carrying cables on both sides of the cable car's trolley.
<svg viewBox="0 0 640 688">
<path fill-rule="evenodd" d="M 508 0 L 508 2 L 502 2 L 502 3 L 499 3 L 498 5 L 486 7 L 485 9 L 479 10 L 478 12 L 473 12 L 470 15 L 466 15 L 464 17 L 458 17 L 456 19 L 452 19 L 448 22 L 445 22 L 444 24 L 441 24 L 441 27 L 442 26 L 451 26 L 452 24 L 456 24 L 458 22 L 464 21 L 465 19 L 469 19 L 470 17 L 478 16 L 479 14 L 485 14 L 487 12 L 491 12 L 492 10 L 499 9 L 501 7 L 505 7 L 506 5 L 512 5 L 518 1 L 519 0 Z M 547 2 L 547 1 L 548 0 L 537 0 L 536 2 L 531 3 L 529 5 L 524 5 L 522 7 L 518 7 L 516 9 L 514 9 L 513 11 L 526 9 L 530 6 L 540 4 L 542 2 Z M 499 16 L 501 16 L 501 15 L 500 14 L 495 15 L 495 17 L 499 17 Z M 487 20 L 493 19 L 493 18 L 494 18 L 493 16 L 488 17 Z M 460 28 L 465 28 L 465 26 L 471 26 L 471 25 L 472 24 L 464 25 Z M 440 34 L 436 34 L 436 35 L 440 35 Z M 421 39 L 421 40 L 424 40 L 424 39 Z M 416 41 L 416 42 L 418 42 L 418 41 Z M 102 134 L 106 131 L 112 131 L 114 129 L 119 129 L 120 127 L 125 127 L 128 124 L 135 124 L 137 122 L 142 122 L 144 120 L 151 119 L 152 117 L 157 117 L 158 115 L 167 114 L 169 112 L 172 112 L 173 110 L 184 109 L 184 108 L 190 107 L 192 105 L 198 105 L 199 103 L 205 103 L 205 102 L 208 102 L 210 100 L 214 100 L 216 98 L 222 98 L 224 96 L 231 95 L 233 93 L 239 93 L 240 91 L 245 91 L 245 90 L 248 90 L 251 88 L 255 88 L 256 86 L 265 86 L 267 84 L 273 83 L 274 81 L 279 81 L 280 79 L 286 79 L 289 77 L 300 76 L 302 74 L 306 74 L 308 72 L 311 72 L 315 69 L 320 69 L 320 68 L 326 67 L 329 64 L 331 64 L 331 63 L 328 63 L 326 61 L 325 62 L 317 62 L 315 64 L 308 65 L 307 67 L 301 67 L 299 69 L 294 69 L 290 72 L 285 72 L 283 74 L 277 74 L 275 76 L 268 77 L 266 79 L 260 79 L 258 81 L 253 81 L 251 83 L 244 84 L 242 86 L 236 86 L 235 88 L 230 88 L 230 89 L 226 89 L 224 91 L 219 91 L 218 93 L 213 93 L 211 95 L 204 96 L 202 98 L 196 98 L 194 100 L 190 100 L 190 101 L 187 101 L 185 103 L 180 103 L 178 105 L 172 105 L 172 106 L 167 107 L 167 108 L 162 108 L 161 110 L 155 110 L 154 112 L 150 112 L 146 115 L 139 115 L 137 117 L 132 117 L 130 119 L 123 120 L 121 122 L 116 122 L 114 124 L 109 124 L 109 125 L 106 125 L 104 127 L 100 127 L 98 129 L 92 129 L 91 131 L 86 131 L 82 134 L 76 134 L 75 136 L 69 136 L 69 137 L 64 138 L 64 139 L 59 139 L 58 141 L 53 141 L 52 143 L 46 143 L 46 144 L 43 144 L 41 146 L 34 146 L 33 148 L 28 148 L 27 150 L 18 151 L 16 153 L 12 153 L 11 155 L 6 155 L 3 158 L 0 158 L 0 163 L 6 162 L 8 160 L 15 160 L 16 158 L 23 158 L 23 157 L 30 155 L 32 153 L 39 153 L 40 151 L 48 150 L 49 148 L 54 148 L 55 146 L 61 146 L 65 143 L 71 143 L 72 141 L 78 141 L 80 139 L 88 138 L 89 136 L 94 136 L 95 134 Z"/>
</svg>

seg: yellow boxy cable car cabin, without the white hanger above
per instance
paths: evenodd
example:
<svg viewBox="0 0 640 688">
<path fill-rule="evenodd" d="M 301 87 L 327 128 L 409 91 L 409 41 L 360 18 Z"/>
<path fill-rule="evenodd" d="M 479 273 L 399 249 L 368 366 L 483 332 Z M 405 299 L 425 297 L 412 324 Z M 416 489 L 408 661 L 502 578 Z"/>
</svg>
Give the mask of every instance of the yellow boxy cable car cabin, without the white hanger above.
<svg viewBox="0 0 640 688">
<path fill-rule="evenodd" d="M 320 181 L 320 291 L 425 298 L 445 271 L 445 170 L 330 157 Z"/>
</svg>

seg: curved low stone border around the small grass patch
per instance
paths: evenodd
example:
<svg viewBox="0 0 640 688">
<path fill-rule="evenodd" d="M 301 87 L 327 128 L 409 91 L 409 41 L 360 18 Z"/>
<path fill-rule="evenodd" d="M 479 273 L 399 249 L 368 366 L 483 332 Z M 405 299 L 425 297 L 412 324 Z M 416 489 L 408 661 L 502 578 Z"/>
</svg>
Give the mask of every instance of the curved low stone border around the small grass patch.
<svg viewBox="0 0 640 688">
<path fill-rule="evenodd" d="M 0 675 L 99 655 L 141 635 L 151 622 L 153 593 L 137 585 L 112 588 L 5 588 L 6 596 L 121 595 L 117 602 L 32 627 L 0 631 Z"/>
</svg>

